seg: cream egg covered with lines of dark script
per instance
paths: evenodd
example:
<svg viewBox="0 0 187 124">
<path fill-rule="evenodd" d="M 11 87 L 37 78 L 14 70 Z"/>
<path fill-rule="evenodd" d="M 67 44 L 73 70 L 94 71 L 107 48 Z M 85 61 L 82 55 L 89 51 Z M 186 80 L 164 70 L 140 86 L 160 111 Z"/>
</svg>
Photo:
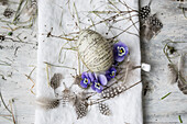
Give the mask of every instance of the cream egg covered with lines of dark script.
<svg viewBox="0 0 187 124">
<path fill-rule="evenodd" d="M 112 45 L 99 33 L 92 30 L 81 31 L 77 46 L 78 54 L 89 70 L 106 71 L 112 66 Z"/>
</svg>

